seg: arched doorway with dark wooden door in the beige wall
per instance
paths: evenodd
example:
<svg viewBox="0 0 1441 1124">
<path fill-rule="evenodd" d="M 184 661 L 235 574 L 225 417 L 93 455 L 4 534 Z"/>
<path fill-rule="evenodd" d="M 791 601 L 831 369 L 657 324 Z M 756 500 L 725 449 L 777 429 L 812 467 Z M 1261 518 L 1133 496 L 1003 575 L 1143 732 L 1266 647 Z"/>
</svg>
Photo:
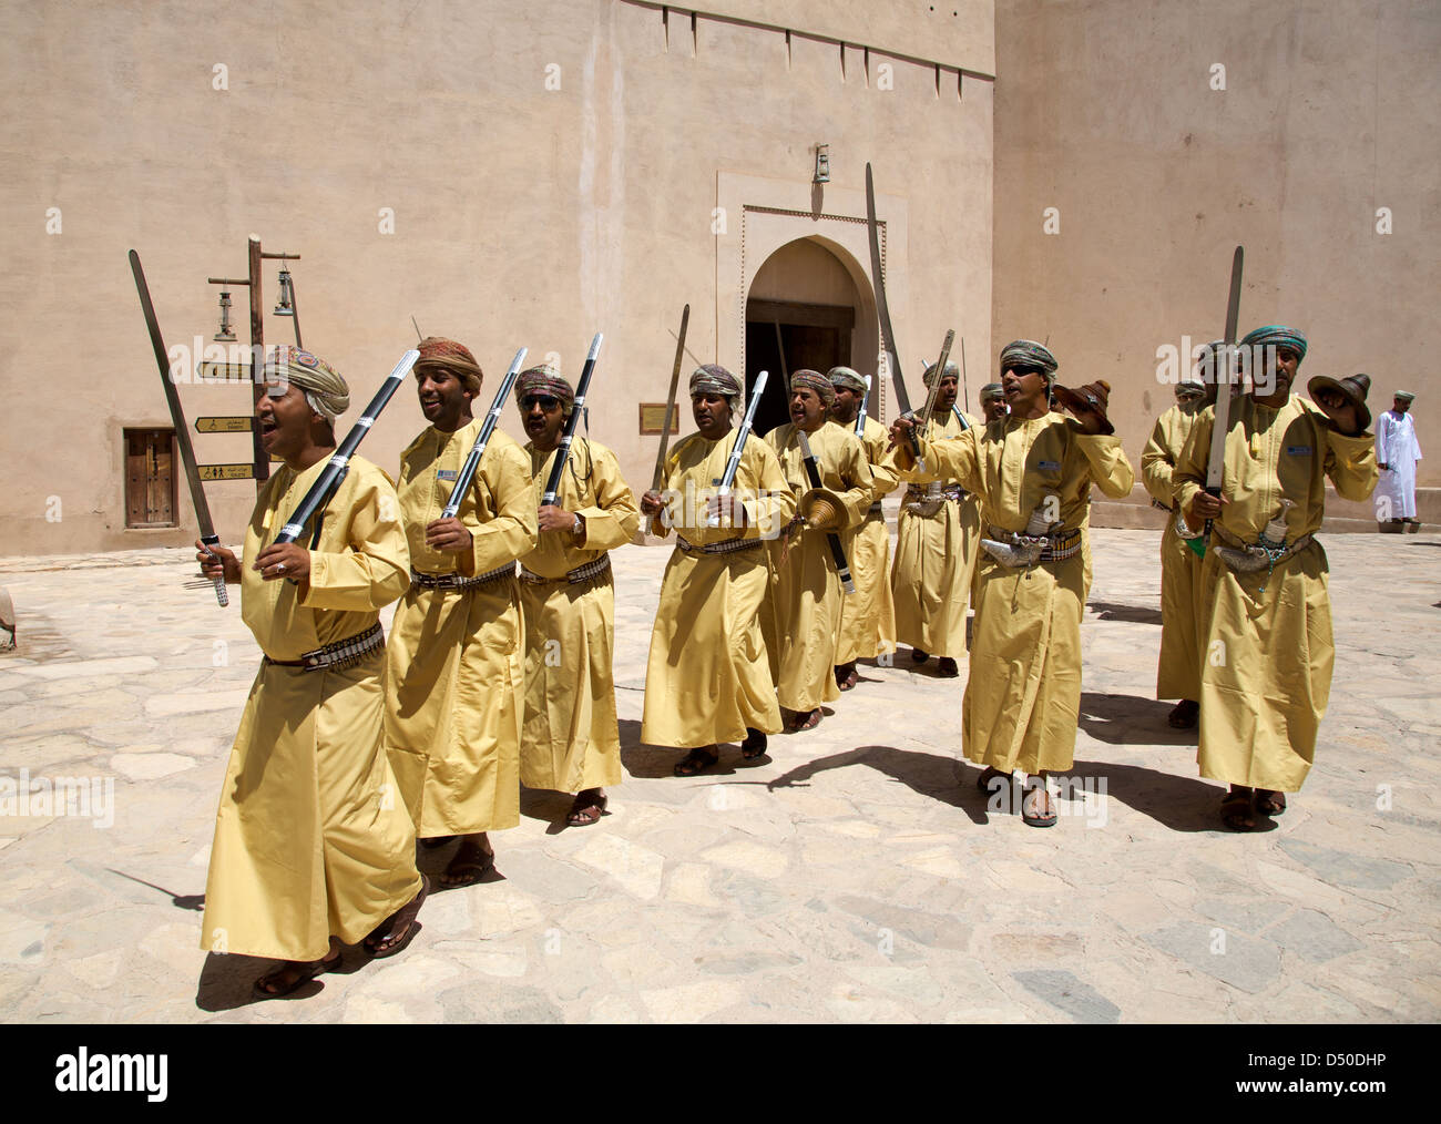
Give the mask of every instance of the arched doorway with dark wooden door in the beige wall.
<svg viewBox="0 0 1441 1124">
<path fill-rule="evenodd" d="M 824 373 L 834 366 L 875 372 L 873 354 L 862 357 L 875 352 L 876 336 L 865 307 L 852 269 L 826 239 L 798 238 L 765 259 L 745 301 L 745 385 L 752 386 L 762 370 L 771 372 L 755 411 L 757 434 L 790 421 L 790 372 L 810 367 Z"/>
</svg>

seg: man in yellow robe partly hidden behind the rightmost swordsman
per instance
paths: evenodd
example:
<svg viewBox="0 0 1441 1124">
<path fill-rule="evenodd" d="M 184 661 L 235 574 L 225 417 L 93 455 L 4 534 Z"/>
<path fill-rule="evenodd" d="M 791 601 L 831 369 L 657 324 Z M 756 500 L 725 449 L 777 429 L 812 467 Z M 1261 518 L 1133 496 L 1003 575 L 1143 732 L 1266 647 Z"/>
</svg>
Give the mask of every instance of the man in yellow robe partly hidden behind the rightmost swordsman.
<svg viewBox="0 0 1441 1124">
<path fill-rule="evenodd" d="M 1216 344 L 1202 353 L 1215 354 Z M 1176 383 L 1176 405 L 1156 419 L 1151 440 L 1141 452 L 1141 481 L 1151 503 L 1167 513 L 1161 532 L 1161 651 L 1156 666 L 1156 697 L 1180 699 L 1166 719 L 1174 729 L 1190 729 L 1200 712 L 1200 628 L 1206 615 L 1200 597 L 1200 558 L 1176 533 L 1173 474 L 1196 416 L 1205 409 L 1206 385 L 1196 379 Z"/>
</svg>

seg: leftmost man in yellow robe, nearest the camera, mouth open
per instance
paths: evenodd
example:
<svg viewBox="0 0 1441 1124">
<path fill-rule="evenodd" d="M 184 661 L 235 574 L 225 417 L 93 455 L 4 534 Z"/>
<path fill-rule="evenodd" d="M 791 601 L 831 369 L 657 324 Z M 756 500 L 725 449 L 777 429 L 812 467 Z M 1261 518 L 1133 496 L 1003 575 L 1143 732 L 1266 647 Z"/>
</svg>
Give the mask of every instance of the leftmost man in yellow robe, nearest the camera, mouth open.
<svg viewBox="0 0 1441 1124">
<path fill-rule="evenodd" d="M 241 586 L 265 653 L 220 790 L 200 947 L 285 961 L 255 981 L 274 997 L 336 967 L 336 941 L 398 953 L 428 883 L 380 739 L 380 608 L 409 582 L 395 490 L 352 457 L 304 535 L 275 545 L 334 452 L 350 393 L 293 347 L 269 354 L 265 380 L 261 445 L 284 464 L 256 497 L 244 563 L 223 546 L 197 555 L 206 576 Z"/>
</svg>

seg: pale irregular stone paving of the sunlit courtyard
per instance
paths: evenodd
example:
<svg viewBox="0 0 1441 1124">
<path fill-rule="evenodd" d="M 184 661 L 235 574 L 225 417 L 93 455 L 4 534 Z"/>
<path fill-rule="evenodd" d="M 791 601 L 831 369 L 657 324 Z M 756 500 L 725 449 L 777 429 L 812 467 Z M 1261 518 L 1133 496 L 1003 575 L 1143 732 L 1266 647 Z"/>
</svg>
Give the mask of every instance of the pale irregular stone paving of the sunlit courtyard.
<svg viewBox="0 0 1441 1124">
<path fill-rule="evenodd" d="M 409 950 L 347 951 L 262 1003 L 262 961 L 197 948 L 259 659 L 238 605 L 187 588 L 183 550 L 0 562 L 20 623 L 0 656 L 0 775 L 95 785 L 88 816 L 35 797 L 0 816 L 0 1017 L 1434 1022 L 1441 538 L 1329 538 L 1317 764 L 1249 836 L 1219 827 L 1219 787 L 1151 699 L 1156 543 L 1094 532 L 1075 780 L 1048 831 L 990 808 L 958 761 L 965 663 L 938 679 L 905 651 L 863 666 L 816 731 L 772 738 L 768 762 L 732 746 L 716 772 L 673 777 L 674 751 L 638 744 L 669 550 L 618 550 L 611 813 L 562 830 L 569 798 L 525 793 L 497 875 L 437 892 Z"/>
</svg>

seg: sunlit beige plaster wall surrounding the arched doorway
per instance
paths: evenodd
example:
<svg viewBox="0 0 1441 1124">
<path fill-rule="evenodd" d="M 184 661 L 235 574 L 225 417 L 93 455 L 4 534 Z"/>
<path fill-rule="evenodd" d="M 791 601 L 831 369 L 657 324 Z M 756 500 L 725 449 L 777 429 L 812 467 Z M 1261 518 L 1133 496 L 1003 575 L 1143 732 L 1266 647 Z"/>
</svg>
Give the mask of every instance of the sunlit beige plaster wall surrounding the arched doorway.
<svg viewBox="0 0 1441 1124">
<path fill-rule="evenodd" d="M 767 22 L 821 7 L 775 6 Z M 860 12 L 842 6 L 837 19 Z M 761 216 L 782 242 L 844 228 L 847 268 L 870 300 L 863 225 L 810 213 L 817 143 L 831 154 L 827 215 L 863 218 L 865 161 L 876 166 L 905 352 L 931 350 L 921 340 L 963 311 L 984 331 L 991 82 L 953 69 L 938 92 L 935 65 L 904 58 L 929 24 L 901 9 L 867 23 L 872 52 L 895 39 L 889 88 L 866 72 L 863 46 L 800 30 L 787 43 L 742 14 L 702 14 L 693 43 L 687 16 L 687 36 L 667 48 L 661 10 L 624 0 L 0 6 L 0 92 L 17 110 L 0 128 L 0 555 L 193 535 L 183 484 L 186 526 L 124 530 L 120 432 L 167 421 L 130 248 L 171 346 L 209 342 L 206 277 L 244 275 L 249 233 L 300 252 L 304 342 L 350 379 L 350 418 L 415 342 L 412 314 L 467 343 L 487 388 L 522 344 L 536 360 L 558 353 L 574 376 L 604 330 L 591 432 L 635 486 L 657 440 L 637 432 L 637 402 L 664 399 L 682 304 L 696 357 L 741 362 L 741 239 L 759 229 L 746 206 L 797 212 Z M 981 66 L 989 24 L 968 35 L 980 53 L 948 49 L 948 65 Z M 228 88 L 216 89 L 222 65 Z M 718 233 L 722 205 L 733 209 Z M 59 233 L 46 233 L 49 208 Z M 272 307 L 274 264 L 264 282 Z M 245 291 L 233 297 L 245 342 Z M 285 320 L 265 330 L 291 339 Z M 182 399 L 192 419 L 242 414 L 249 388 L 183 386 Z M 362 455 L 393 468 L 422 424 L 402 392 Z M 513 411 L 503 425 L 520 432 Z M 246 437 L 196 447 L 203 463 L 248 460 Z M 208 494 L 233 542 L 254 484 Z M 50 497 L 59 520 L 46 517 Z"/>
</svg>

